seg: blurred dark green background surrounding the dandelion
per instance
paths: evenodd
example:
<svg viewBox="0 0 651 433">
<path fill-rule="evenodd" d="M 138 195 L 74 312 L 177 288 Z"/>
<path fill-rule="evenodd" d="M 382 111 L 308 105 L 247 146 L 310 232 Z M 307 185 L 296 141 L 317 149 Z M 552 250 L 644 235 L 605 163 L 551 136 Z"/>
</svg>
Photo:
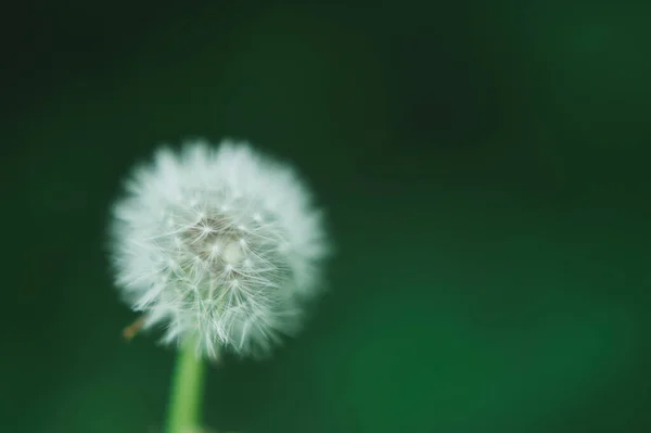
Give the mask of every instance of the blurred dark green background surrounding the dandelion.
<svg viewBox="0 0 651 433">
<path fill-rule="evenodd" d="M 0 18 L 1 431 L 162 431 L 174 353 L 120 340 L 105 227 L 197 136 L 295 163 L 339 247 L 209 426 L 651 431 L 650 3 L 168 3 Z"/>
</svg>

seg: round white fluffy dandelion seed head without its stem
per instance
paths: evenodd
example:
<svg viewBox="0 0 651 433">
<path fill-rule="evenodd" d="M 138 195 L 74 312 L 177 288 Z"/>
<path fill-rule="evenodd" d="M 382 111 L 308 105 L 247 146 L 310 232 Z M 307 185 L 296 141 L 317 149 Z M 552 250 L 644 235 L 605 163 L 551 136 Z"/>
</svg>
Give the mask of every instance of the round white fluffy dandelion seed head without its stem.
<svg viewBox="0 0 651 433">
<path fill-rule="evenodd" d="M 328 255 L 321 214 L 291 167 L 226 140 L 159 150 L 114 207 L 117 285 L 165 343 L 192 336 L 264 356 L 295 333 Z"/>
</svg>

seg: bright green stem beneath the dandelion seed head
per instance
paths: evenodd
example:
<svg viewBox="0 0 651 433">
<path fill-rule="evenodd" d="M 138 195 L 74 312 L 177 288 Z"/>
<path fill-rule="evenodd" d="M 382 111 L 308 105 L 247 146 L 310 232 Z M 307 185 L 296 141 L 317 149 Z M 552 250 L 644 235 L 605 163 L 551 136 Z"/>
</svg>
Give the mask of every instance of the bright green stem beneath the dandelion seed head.
<svg viewBox="0 0 651 433">
<path fill-rule="evenodd" d="M 201 402 L 205 366 L 196 358 L 194 341 L 179 351 L 174 373 L 167 419 L 167 433 L 189 433 L 201 426 Z"/>
</svg>

